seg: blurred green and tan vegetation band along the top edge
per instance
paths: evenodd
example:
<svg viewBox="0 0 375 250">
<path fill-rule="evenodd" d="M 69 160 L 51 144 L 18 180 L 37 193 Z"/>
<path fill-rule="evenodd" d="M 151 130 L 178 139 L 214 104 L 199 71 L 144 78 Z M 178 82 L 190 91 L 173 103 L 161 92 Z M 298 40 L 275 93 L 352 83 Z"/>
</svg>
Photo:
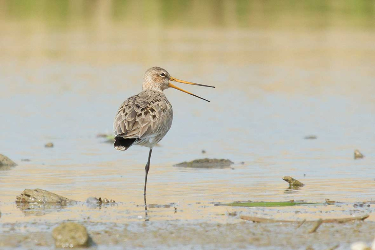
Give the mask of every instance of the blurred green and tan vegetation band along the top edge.
<svg viewBox="0 0 375 250">
<path fill-rule="evenodd" d="M 373 0 L 0 0 L 0 20 L 168 27 L 375 27 Z"/>
</svg>

